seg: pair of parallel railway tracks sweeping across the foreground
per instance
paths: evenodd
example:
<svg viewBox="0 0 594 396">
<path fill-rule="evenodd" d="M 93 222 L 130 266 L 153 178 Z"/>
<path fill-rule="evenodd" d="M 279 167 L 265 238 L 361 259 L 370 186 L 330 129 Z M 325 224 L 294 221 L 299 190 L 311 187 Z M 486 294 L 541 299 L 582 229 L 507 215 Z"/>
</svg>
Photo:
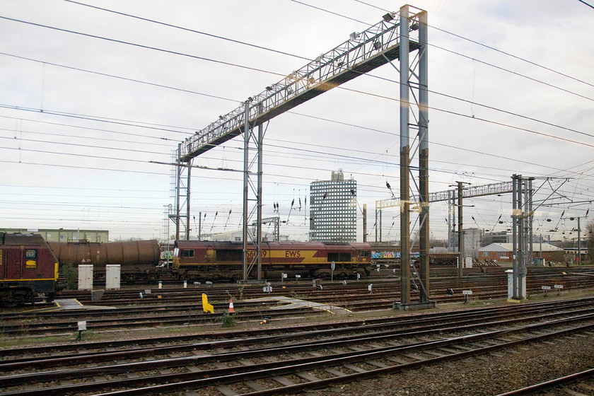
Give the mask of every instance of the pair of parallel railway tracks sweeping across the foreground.
<svg viewBox="0 0 594 396">
<path fill-rule="evenodd" d="M 583 298 L 267 329 L 252 337 L 231 332 L 203 342 L 168 339 L 134 348 L 86 343 L 76 352 L 56 348 L 55 356 L 37 356 L 43 353 L 33 349 L 11 354 L 28 356 L 23 359 L 3 352 L 0 384 L 3 395 L 276 395 L 593 330 L 594 298 Z"/>
</svg>

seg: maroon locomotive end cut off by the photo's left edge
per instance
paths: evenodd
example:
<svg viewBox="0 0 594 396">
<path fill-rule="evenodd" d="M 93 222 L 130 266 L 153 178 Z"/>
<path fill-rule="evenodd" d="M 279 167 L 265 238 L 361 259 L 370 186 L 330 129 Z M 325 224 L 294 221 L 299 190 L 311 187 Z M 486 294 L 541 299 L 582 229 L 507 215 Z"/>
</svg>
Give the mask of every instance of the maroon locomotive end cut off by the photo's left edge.
<svg viewBox="0 0 594 396">
<path fill-rule="evenodd" d="M 0 303 L 34 303 L 39 293 L 52 301 L 58 260 L 39 234 L 0 233 Z"/>
</svg>

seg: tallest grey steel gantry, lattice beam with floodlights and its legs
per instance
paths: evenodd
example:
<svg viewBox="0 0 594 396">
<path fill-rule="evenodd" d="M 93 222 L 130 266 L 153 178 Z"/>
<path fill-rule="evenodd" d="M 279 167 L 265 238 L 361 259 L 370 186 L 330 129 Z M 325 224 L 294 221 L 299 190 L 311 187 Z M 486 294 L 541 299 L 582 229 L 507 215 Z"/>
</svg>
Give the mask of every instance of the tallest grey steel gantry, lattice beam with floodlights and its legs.
<svg viewBox="0 0 594 396">
<path fill-rule="evenodd" d="M 419 156 L 421 163 L 427 163 L 428 149 L 426 140 L 427 129 L 427 59 L 426 59 L 426 11 L 414 8 L 414 13 L 410 10 L 412 6 L 402 6 L 400 12 L 387 13 L 383 16 L 383 20 L 361 33 L 351 33 L 349 40 L 343 42 L 338 47 L 320 54 L 313 61 L 296 71 L 293 71 L 288 76 L 281 79 L 281 81 L 267 86 L 264 91 L 254 95 L 248 100 L 245 100 L 242 105 L 226 115 L 221 115 L 217 120 L 211 122 L 207 127 L 196 132 L 194 135 L 185 139 L 175 151 L 175 158 L 177 160 L 173 165 L 177 166 L 177 186 L 180 186 L 180 180 L 187 180 L 186 189 L 178 187 L 176 190 L 176 207 L 177 213 L 172 216 L 178 225 L 185 225 L 189 228 L 190 214 L 181 214 L 180 208 L 187 208 L 189 211 L 190 199 L 190 169 L 192 168 L 191 161 L 193 158 L 209 151 L 215 146 L 219 146 L 229 139 L 244 134 L 244 149 L 248 150 L 248 144 L 253 141 L 257 150 L 255 150 L 256 159 L 250 161 L 248 153 L 244 156 L 244 204 L 243 204 L 243 228 L 244 228 L 244 280 L 247 280 L 250 273 L 249 267 L 252 264 L 248 263 L 247 243 L 248 235 L 254 236 L 255 244 L 255 260 L 260 259 L 260 232 L 248 233 L 248 225 L 250 224 L 250 214 L 257 214 L 256 223 L 258 227 L 262 225 L 262 138 L 261 131 L 262 124 L 271 120 L 277 115 L 291 110 L 293 107 L 304 103 L 307 100 L 315 98 L 332 88 L 340 86 L 342 83 L 350 81 L 361 74 L 366 74 L 368 71 L 392 62 L 392 60 L 400 59 L 400 134 L 401 134 L 401 173 L 402 168 L 406 169 L 405 179 L 408 180 L 409 175 L 409 144 L 408 144 L 408 129 L 409 129 L 409 91 L 418 90 L 420 103 L 419 105 L 419 136 L 423 136 L 420 144 Z M 400 16 L 400 17 L 399 17 Z M 417 73 L 410 73 L 409 66 L 409 52 L 419 50 L 419 56 L 416 59 Z M 409 81 L 410 76 L 417 76 L 417 83 Z M 253 130 L 259 127 L 260 132 L 255 137 Z M 253 151 L 253 150 L 251 150 Z M 252 187 L 252 194 L 255 198 L 250 199 L 250 185 L 254 172 L 250 171 L 250 165 L 257 162 L 258 170 L 255 172 L 259 181 L 257 187 Z M 427 166 L 421 164 L 419 179 L 421 185 L 426 183 Z M 421 187 L 421 189 L 424 187 Z M 402 185 L 401 185 L 402 190 Z M 426 188 L 425 190 L 426 191 Z M 408 189 L 404 189 L 402 194 L 409 194 Z M 182 199 L 187 199 L 185 204 L 178 204 Z M 407 199 L 405 199 L 407 200 Z M 250 209 L 249 203 L 255 203 L 255 209 Z M 408 210 L 408 207 L 407 209 Z M 427 235 L 429 235 L 429 209 L 427 207 L 426 215 L 424 217 L 425 226 L 427 227 Z M 186 221 L 183 221 L 186 220 Z M 408 229 L 408 224 L 406 225 Z M 180 237 L 178 226 L 176 238 Z M 190 235 L 190 231 L 186 230 L 186 234 Z M 429 272 L 429 267 L 427 267 Z M 405 299 L 409 293 L 406 294 Z"/>
</svg>

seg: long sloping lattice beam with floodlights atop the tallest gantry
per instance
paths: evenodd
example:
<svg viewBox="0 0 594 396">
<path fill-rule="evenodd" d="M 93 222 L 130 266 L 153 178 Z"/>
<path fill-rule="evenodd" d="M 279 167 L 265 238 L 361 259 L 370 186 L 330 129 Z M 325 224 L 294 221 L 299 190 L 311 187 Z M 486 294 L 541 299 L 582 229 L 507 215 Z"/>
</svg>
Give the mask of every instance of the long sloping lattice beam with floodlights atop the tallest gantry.
<svg viewBox="0 0 594 396">
<path fill-rule="evenodd" d="M 418 11 L 421 13 L 421 10 Z M 409 16 L 412 22 L 409 25 L 409 52 L 419 49 L 418 33 L 415 34 L 419 26 L 419 13 Z M 397 15 L 399 13 L 386 14 L 383 21 L 361 33 L 351 34 L 351 38 L 342 45 L 321 54 L 250 98 L 250 123 L 256 119 L 258 124 L 266 122 L 342 83 L 398 59 L 400 19 Z M 244 120 L 243 105 L 219 116 L 219 120 L 182 142 L 178 158 L 182 162 L 190 161 L 210 148 L 242 134 Z"/>
</svg>

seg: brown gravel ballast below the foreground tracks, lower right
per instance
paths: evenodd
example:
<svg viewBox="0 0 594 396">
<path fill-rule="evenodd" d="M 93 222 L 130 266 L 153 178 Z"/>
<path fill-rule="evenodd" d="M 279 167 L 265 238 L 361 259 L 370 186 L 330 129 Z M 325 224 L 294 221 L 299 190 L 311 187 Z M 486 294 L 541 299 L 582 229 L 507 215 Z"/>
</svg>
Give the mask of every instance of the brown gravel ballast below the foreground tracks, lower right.
<svg viewBox="0 0 594 396">
<path fill-rule="evenodd" d="M 593 367 L 594 333 L 587 333 L 298 395 L 499 395 Z"/>
</svg>

